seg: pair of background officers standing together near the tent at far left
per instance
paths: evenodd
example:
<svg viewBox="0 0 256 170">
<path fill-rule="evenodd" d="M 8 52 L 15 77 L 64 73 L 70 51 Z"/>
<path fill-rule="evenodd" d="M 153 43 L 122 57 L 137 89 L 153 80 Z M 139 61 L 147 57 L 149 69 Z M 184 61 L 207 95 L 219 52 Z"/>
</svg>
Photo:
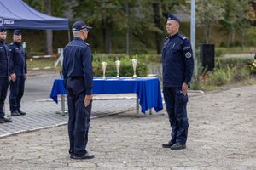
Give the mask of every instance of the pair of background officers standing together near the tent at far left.
<svg viewBox="0 0 256 170">
<path fill-rule="evenodd" d="M 14 42 L 7 46 L 6 30 L 0 26 L 0 123 L 12 122 L 5 116 L 4 101 L 10 86 L 9 108 L 11 116 L 26 115 L 20 110 L 20 100 L 24 94 L 26 71 L 26 51 L 21 46 L 21 32 L 15 30 Z"/>
</svg>

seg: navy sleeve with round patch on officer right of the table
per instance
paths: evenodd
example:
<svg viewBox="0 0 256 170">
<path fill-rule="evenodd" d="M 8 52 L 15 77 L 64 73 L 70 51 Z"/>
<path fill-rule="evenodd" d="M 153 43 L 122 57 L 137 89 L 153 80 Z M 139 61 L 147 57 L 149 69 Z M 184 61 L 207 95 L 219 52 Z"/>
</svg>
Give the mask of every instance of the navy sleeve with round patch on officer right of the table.
<svg viewBox="0 0 256 170">
<path fill-rule="evenodd" d="M 185 61 L 185 82 L 190 82 L 194 70 L 192 47 L 188 38 L 183 42 L 183 59 Z"/>
</svg>

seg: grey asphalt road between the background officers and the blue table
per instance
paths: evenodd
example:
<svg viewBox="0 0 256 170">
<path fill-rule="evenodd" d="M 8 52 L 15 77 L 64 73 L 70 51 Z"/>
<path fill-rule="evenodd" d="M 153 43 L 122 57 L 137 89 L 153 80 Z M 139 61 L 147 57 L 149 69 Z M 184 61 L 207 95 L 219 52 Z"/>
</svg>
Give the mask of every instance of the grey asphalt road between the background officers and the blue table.
<svg viewBox="0 0 256 170">
<path fill-rule="evenodd" d="M 60 78 L 60 76 L 28 77 L 25 82 L 25 93 L 21 102 L 49 99 L 49 94 L 55 78 Z M 9 92 L 5 99 L 5 104 L 9 105 Z"/>
</svg>

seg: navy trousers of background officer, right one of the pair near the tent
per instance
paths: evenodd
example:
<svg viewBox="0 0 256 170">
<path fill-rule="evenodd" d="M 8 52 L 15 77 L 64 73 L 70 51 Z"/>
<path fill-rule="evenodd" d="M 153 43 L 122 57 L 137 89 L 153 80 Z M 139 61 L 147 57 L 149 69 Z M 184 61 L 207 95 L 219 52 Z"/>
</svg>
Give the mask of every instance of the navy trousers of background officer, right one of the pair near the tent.
<svg viewBox="0 0 256 170">
<path fill-rule="evenodd" d="M 25 76 L 16 76 L 15 82 L 10 82 L 9 109 L 13 113 L 20 110 L 20 101 L 24 94 Z"/>
</svg>

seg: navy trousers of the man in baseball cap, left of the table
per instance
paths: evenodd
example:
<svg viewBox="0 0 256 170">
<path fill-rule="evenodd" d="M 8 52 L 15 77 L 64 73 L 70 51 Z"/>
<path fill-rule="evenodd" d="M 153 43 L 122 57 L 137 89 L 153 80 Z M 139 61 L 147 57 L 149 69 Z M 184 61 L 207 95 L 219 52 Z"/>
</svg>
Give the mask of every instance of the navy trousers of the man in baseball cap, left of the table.
<svg viewBox="0 0 256 170">
<path fill-rule="evenodd" d="M 91 103 L 84 106 L 85 85 L 83 77 L 67 78 L 68 135 L 70 154 L 84 156 L 88 143 Z"/>
</svg>

